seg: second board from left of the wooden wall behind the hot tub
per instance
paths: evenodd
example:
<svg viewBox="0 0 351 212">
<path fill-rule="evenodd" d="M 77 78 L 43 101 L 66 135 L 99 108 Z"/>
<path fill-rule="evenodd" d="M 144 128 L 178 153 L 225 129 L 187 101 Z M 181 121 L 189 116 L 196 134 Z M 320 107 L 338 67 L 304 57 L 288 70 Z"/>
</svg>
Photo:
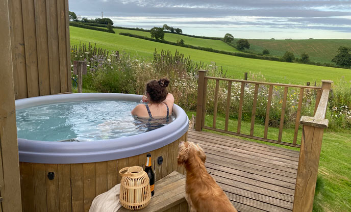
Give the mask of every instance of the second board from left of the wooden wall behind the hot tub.
<svg viewBox="0 0 351 212">
<path fill-rule="evenodd" d="M 24 51 L 26 52 L 28 97 L 39 96 L 34 4 L 22 1 Z"/>
</svg>

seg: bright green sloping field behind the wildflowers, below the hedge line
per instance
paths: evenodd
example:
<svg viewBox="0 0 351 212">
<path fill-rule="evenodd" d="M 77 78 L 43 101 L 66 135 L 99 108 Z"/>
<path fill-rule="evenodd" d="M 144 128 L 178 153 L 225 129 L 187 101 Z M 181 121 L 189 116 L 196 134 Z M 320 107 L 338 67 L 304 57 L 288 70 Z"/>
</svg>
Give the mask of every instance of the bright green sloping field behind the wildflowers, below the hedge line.
<svg viewBox="0 0 351 212">
<path fill-rule="evenodd" d="M 70 26 L 69 29 L 71 45 L 77 45 L 79 42 L 97 43 L 98 47 L 126 51 L 131 55 L 138 55 L 149 60 L 152 59 L 155 48 L 158 51 L 168 49 L 172 52 L 178 49 L 185 56 L 191 56 L 193 61 L 201 61 L 205 64 L 215 62 L 217 66 L 222 66 L 223 70 L 227 70 L 228 75 L 235 78 L 243 78 L 244 72 L 260 72 L 267 80 L 274 83 L 306 84 L 306 82 L 313 83 L 314 81 L 319 83 L 321 80 L 336 82 L 342 76 L 347 81 L 351 80 L 349 69 L 240 58 L 73 26 Z"/>
</svg>

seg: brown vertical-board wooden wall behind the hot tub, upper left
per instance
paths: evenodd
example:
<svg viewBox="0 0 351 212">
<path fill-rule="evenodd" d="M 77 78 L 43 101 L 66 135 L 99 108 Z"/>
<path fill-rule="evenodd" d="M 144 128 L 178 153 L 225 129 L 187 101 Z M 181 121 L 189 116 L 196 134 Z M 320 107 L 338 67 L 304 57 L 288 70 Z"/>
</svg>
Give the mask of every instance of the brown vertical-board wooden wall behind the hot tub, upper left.
<svg viewBox="0 0 351 212">
<path fill-rule="evenodd" d="M 67 0 L 9 1 L 15 98 L 71 91 Z"/>
</svg>

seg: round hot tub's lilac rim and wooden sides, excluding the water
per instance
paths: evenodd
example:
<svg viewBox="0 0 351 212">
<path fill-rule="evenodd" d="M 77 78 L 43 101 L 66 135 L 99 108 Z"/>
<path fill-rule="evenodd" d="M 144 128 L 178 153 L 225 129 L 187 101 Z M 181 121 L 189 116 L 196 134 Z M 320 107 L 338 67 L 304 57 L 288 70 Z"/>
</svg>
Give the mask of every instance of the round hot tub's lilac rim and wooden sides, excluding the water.
<svg viewBox="0 0 351 212">
<path fill-rule="evenodd" d="M 48 95 L 18 99 L 16 110 L 72 101 L 140 99 L 132 94 Z M 178 144 L 187 139 L 188 117 L 175 104 L 173 114 L 176 118 L 166 126 L 117 139 L 53 142 L 18 138 L 24 211 L 88 211 L 95 196 L 119 183 L 121 168 L 144 166 L 148 152 L 157 180 L 174 170 L 184 173 L 177 166 L 177 155 Z"/>
</svg>

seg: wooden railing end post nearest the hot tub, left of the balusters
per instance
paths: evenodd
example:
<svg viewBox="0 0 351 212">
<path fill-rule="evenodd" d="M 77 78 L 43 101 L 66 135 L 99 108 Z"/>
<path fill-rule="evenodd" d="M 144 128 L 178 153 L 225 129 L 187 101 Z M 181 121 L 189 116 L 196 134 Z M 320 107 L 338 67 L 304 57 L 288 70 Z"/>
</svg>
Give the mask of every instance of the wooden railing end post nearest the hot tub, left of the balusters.
<svg viewBox="0 0 351 212">
<path fill-rule="evenodd" d="M 204 99 L 204 86 L 205 76 L 207 70 L 198 70 L 197 81 L 197 104 L 196 104 L 196 121 L 195 130 L 201 131 L 202 117 L 203 117 L 203 99 Z"/>
</svg>

